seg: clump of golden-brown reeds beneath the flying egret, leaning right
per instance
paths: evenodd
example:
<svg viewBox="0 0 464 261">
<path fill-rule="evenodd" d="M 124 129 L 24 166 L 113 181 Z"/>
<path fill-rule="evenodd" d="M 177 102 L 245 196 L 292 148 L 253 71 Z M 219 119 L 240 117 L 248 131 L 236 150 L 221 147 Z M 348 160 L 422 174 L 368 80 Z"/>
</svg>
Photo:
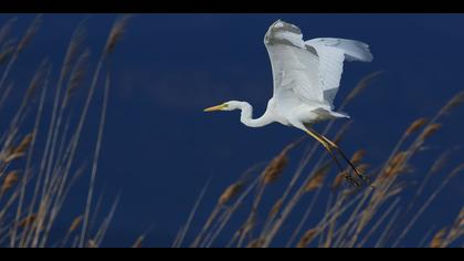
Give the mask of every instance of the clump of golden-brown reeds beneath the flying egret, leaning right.
<svg viewBox="0 0 464 261">
<path fill-rule="evenodd" d="M 361 91 L 371 85 L 379 75 L 372 73 L 362 79 L 358 86 L 341 103 L 340 109 L 352 102 Z M 288 169 L 292 149 L 303 144 L 305 138 L 286 146 L 262 170 L 254 169 L 255 176 L 246 181 L 240 179 L 229 187 L 221 196 L 220 206 L 209 216 L 199 233 L 192 233 L 194 240 L 188 243 L 184 237 L 177 240 L 176 247 L 232 247 L 232 248 L 268 248 L 268 247 L 399 247 L 412 233 L 412 228 L 424 213 L 435 197 L 445 188 L 458 173 L 464 170 L 462 165 L 445 175 L 442 182 L 434 184 L 435 188 L 429 195 L 425 186 L 431 175 L 439 175 L 454 150 L 446 150 L 431 164 L 423 177 L 416 176 L 418 185 L 410 181 L 414 156 L 422 154 L 423 148 L 432 135 L 443 128 L 442 117 L 453 108 L 464 103 L 464 93 L 452 97 L 432 117 L 420 117 L 405 128 L 403 135 L 393 146 L 390 156 L 377 167 L 365 161 L 365 149 L 359 149 L 351 157 L 351 163 L 360 173 L 372 179 L 373 187 L 366 186 L 357 189 L 347 184 L 346 174 L 337 173 L 333 161 L 326 154 L 317 154 L 317 143 L 307 145 L 296 170 Z M 327 134 L 334 122 L 329 122 L 324 129 Z M 340 143 L 342 136 L 351 125 L 345 123 L 335 140 Z M 424 150 L 426 152 L 426 150 Z M 348 167 L 347 167 L 348 170 Z M 250 170 L 247 170 L 249 173 Z M 293 175 L 291 175 L 293 171 Z M 335 171 L 335 174 L 334 174 Z M 418 175 L 418 174 L 415 174 Z M 282 194 L 267 195 L 265 188 L 283 182 L 286 189 Z M 236 186 L 240 184 L 240 192 Z M 413 189 L 413 196 L 404 194 Z M 204 196 L 204 191 L 202 192 Z M 231 201 L 232 196 L 234 201 Z M 425 202 L 418 205 L 420 197 L 426 197 Z M 200 201 L 201 199 L 199 199 Z M 264 201 L 274 202 L 265 207 Z M 197 206 L 199 205 L 197 202 Z M 316 205 L 325 205 L 325 211 L 315 209 Z M 221 207 L 222 206 L 222 207 Z M 462 207 L 462 206 L 457 206 Z M 268 208 L 268 209 L 267 209 Z M 242 226 L 236 227 L 232 217 Z M 302 213 L 303 210 L 303 213 Z M 249 212 L 243 216 L 243 212 Z M 189 218 L 189 225 L 192 216 Z M 291 223 L 288 218 L 299 219 Z M 454 223 L 447 228 L 433 229 L 431 233 L 423 233 L 422 242 L 413 247 L 463 247 L 464 210 L 461 210 Z M 189 226 L 188 225 L 188 226 Z M 232 234 L 225 230 L 235 231 Z M 289 234 L 289 236 L 288 236 Z M 218 242 L 229 237 L 226 244 Z"/>
</svg>

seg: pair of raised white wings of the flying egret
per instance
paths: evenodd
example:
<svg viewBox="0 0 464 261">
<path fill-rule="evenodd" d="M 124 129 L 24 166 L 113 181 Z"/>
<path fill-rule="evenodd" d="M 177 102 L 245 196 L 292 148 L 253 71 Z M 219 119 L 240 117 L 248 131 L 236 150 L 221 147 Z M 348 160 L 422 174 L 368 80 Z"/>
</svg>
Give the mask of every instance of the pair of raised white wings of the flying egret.
<svg viewBox="0 0 464 261">
<path fill-rule="evenodd" d="M 333 107 L 344 60 L 372 59 L 367 44 L 351 40 L 314 39 L 304 42 L 297 27 L 281 20 L 270 27 L 264 43 L 273 70 L 274 96 L 296 95 L 307 104 Z"/>
</svg>

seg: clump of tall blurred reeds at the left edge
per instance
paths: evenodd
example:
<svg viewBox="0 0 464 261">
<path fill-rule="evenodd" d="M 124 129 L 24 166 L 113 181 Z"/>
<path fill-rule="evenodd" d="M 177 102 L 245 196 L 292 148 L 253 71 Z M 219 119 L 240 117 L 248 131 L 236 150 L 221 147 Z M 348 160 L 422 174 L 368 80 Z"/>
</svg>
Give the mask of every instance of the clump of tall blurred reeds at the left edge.
<svg viewBox="0 0 464 261">
<path fill-rule="evenodd" d="M 29 86 L 14 86 L 11 72 L 21 66 L 18 58 L 25 55 L 28 46 L 33 44 L 43 19 L 43 15 L 38 15 L 19 41 L 14 34 L 17 19 L 0 28 L 0 111 L 6 106 L 17 106 L 0 133 L 0 247 L 99 247 L 116 208 L 115 203 L 99 226 L 91 225 L 89 220 L 97 212 L 93 191 L 110 85 L 108 65 L 128 15 L 114 23 L 94 71 L 89 70 L 91 52 L 84 49 L 86 30 L 81 23 L 71 35 L 56 72 L 45 59 L 38 65 Z M 55 73 L 56 82 L 52 81 Z M 23 74 L 28 75 L 27 72 Z M 103 76 L 104 86 L 101 87 L 97 83 Z M 18 105 L 10 97 L 19 92 L 23 92 L 23 98 Z M 74 95 L 77 92 L 80 95 Z M 103 106 L 95 149 L 87 152 L 93 155 L 88 168 L 76 150 L 82 134 L 88 128 L 92 130 L 86 119 L 91 105 L 95 103 L 95 93 L 103 93 L 104 98 L 98 101 Z M 49 108 L 45 100 L 50 98 L 53 103 Z M 70 121 L 71 117 L 77 122 Z M 38 146 L 38 143 L 43 146 Z M 61 240 L 52 242 L 50 234 L 78 177 L 89 179 L 86 205 L 81 206 L 82 215 L 70 221 L 71 226 Z"/>
</svg>

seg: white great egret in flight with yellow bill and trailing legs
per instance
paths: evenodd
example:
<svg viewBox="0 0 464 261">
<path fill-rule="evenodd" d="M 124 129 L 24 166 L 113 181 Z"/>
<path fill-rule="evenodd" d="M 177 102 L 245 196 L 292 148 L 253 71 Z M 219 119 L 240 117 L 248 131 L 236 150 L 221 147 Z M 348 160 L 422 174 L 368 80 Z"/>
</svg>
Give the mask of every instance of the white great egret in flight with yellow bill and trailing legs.
<svg viewBox="0 0 464 261">
<path fill-rule="evenodd" d="M 349 117 L 345 113 L 335 112 L 333 104 L 340 84 L 344 61 L 370 62 L 372 54 L 369 45 L 336 38 L 304 41 L 299 28 L 282 20 L 270 27 L 264 36 L 264 44 L 274 77 L 274 95 L 268 101 L 264 115 L 252 118 L 253 107 L 239 101 L 212 106 L 204 112 L 241 109 L 240 121 L 249 127 L 262 127 L 277 122 L 299 128 L 328 150 L 342 173 L 345 171 L 334 149 L 363 181 L 368 182 L 341 149 L 314 130 L 310 125 L 320 121 Z M 345 174 L 345 177 L 355 186 L 360 186 L 350 175 Z"/>
</svg>

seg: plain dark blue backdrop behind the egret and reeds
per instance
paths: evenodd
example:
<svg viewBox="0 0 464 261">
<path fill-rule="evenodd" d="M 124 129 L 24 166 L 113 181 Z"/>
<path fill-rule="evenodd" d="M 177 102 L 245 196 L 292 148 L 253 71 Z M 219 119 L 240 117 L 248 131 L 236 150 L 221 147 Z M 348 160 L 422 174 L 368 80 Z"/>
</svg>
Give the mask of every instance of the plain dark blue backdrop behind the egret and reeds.
<svg viewBox="0 0 464 261">
<path fill-rule="evenodd" d="M 0 22 L 10 17 L 1 15 Z M 18 17 L 20 32 L 33 15 Z M 95 60 L 116 15 L 46 14 L 13 76 L 32 74 L 45 55 L 59 67 L 72 31 L 84 18 Z M 229 100 L 250 102 L 255 117 L 264 112 L 272 96 L 272 74 L 263 36 L 277 19 L 297 24 L 305 39 L 347 38 L 371 46 L 372 63 L 346 63 L 336 105 L 362 76 L 386 72 L 345 109 L 354 125 L 342 147 L 348 154 L 366 148 L 373 166 L 388 157 L 410 122 L 434 114 L 463 90 L 461 14 L 137 14 L 113 59 L 97 191 L 105 194 L 105 206 L 119 192 L 122 197 L 107 246 L 130 246 L 151 225 L 147 244 L 169 246 L 210 177 L 193 229 L 243 170 L 271 159 L 302 135 L 278 124 L 246 128 L 236 112 L 202 113 Z M 433 160 L 426 155 L 462 144 L 463 112 L 447 117 L 425 156 L 414 160 L 418 179 Z M 302 153 L 292 154 L 292 163 Z M 455 155 L 451 163 L 460 160 Z M 59 228 L 67 228 L 82 212 L 85 188 L 77 188 Z M 451 223 L 463 191 L 461 176 L 419 220 L 407 243 L 416 242 L 432 225 Z"/>
</svg>

